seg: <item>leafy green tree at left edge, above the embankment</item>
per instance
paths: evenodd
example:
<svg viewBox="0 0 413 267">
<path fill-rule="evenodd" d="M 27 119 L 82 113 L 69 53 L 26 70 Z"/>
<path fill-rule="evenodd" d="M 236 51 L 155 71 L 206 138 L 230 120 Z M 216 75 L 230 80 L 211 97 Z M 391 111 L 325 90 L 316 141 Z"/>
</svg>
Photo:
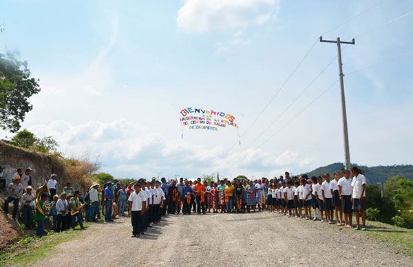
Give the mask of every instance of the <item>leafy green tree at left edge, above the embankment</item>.
<svg viewBox="0 0 413 267">
<path fill-rule="evenodd" d="M 39 79 L 30 78 L 27 61 L 17 52 L 0 54 L 0 128 L 19 131 L 25 114 L 32 110 L 30 96 L 40 92 Z"/>
</svg>

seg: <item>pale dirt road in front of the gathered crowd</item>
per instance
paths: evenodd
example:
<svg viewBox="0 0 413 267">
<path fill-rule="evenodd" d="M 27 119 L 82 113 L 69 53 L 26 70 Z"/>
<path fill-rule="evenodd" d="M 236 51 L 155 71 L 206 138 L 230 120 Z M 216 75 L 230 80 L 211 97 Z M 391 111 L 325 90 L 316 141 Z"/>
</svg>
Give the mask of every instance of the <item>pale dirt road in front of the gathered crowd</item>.
<svg viewBox="0 0 413 267">
<path fill-rule="evenodd" d="M 94 224 L 36 266 L 413 266 L 352 229 L 274 213 L 169 215 L 131 238 L 129 218 Z"/>
</svg>

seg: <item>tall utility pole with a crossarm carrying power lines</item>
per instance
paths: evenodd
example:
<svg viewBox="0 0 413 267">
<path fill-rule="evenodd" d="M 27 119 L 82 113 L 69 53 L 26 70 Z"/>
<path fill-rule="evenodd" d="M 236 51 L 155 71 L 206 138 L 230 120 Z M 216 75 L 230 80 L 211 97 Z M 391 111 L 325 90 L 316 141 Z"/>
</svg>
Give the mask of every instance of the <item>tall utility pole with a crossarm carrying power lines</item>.
<svg viewBox="0 0 413 267">
<path fill-rule="evenodd" d="M 344 74 L 343 74 L 343 63 L 341 61 L 341 43 L 346 43 L 348 45 L 355 45 L 356 41 L 354 38 L 351 42 L 341 41 L 337 37 L 337 41 L 323 40 L 323 36 L 320 36 L 321 43 L 337 43 L 338 58 L 339 58 L 339 76 L 340 76 L 340 88 L 341 88 L 341 114 L 343 115 L 343 136 L 344 136 L 344 162 L 346 164 L 346 169 L 351 168 L 350 162 L 350 146 L 348 145 L 348 129 L 347 129 L 347 111 L 346 111 L 346 97 L 344 94 Z"/>
</svg>

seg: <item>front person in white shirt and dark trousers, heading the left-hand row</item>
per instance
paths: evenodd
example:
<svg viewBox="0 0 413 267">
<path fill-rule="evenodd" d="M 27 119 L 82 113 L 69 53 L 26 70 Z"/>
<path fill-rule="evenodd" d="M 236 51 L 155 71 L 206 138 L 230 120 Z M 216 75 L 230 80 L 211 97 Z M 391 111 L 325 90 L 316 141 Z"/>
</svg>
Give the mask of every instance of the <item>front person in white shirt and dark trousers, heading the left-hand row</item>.
<svg viewBox="0 0 413 267">
<path fill-rule="evenodd" d="M 129 210 L 131 210 L 132 237 L 140 237 L 143 234 L 143 216 L 147 203 L 147 196 L 140 191 L 140 184 L 135 184 L 135 191 L 129 195 Z"/>
</svg>

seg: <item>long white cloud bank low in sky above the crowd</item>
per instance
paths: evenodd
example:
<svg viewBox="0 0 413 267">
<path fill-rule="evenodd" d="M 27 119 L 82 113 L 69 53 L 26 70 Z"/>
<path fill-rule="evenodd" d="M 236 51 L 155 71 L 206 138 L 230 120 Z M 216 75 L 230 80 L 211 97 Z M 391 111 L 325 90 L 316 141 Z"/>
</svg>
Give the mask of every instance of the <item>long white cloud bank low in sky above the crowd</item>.
<svg viewBox="0 0 413 267">
<path fill-rule="evenodd" d="M 158 172 L 171 177 L 174 173 L 195 177 L 216 171 L 234 176 L 240 173 L 268 175 L 273 169 L 308 167 L 310 164 L 308 158 L 301 158 L 294 151 L 278 155 L 261 149 L 228 153 L 218 145 L 207 147 L 180 139 L 167 140 L 159 133 L 123 119 L 81 125 L 57 120 L 29 130 L 40 137 L 55 138 L 66 156 L 100 158 L 102 171 L 118 177 L 152 177 Z"/>
</svg>

